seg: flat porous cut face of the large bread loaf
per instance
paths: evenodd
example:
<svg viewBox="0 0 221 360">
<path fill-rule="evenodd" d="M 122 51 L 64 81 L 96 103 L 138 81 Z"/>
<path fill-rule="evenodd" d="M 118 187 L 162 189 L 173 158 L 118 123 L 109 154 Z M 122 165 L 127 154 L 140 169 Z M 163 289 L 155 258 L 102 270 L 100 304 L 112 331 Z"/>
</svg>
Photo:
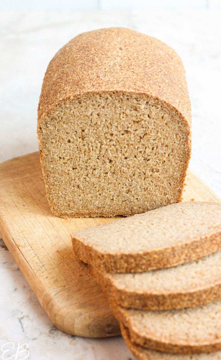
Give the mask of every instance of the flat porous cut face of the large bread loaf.
<svg viewBox="0 0 221 360">
<path fill-rule="evenodd" d="M 41 157 L 53 211 L 133 215 L 180 201 L 189 131 L 145 95 L 86 94 L 41 123 Z"/>
</svg>

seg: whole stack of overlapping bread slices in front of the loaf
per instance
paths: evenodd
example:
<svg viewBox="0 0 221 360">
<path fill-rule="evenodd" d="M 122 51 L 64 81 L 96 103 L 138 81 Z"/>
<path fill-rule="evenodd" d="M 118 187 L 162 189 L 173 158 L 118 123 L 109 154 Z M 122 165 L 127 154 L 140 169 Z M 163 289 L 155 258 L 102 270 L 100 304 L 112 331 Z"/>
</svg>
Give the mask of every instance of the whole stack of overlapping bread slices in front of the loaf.
<svg viewBox="0 0 221 360">
<path fill-rule="evenodd" d="M 72 241 L 138 359 L 221 359 L 220 203 L 168 205 Z"/>
</svg>

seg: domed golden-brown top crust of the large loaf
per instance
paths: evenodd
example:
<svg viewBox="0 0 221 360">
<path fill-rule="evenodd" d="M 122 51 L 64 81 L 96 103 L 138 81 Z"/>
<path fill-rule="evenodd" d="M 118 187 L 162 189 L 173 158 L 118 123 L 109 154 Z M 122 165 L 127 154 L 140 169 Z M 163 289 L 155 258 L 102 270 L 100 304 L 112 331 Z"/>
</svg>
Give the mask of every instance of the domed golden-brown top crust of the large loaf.
<svg viewBox="0 0 221 360">
<path fill-rule="evenodd" d="M 181 59 L 164 42 L 127 28 L 82 33 L 56 53 L 43 80 L 38 123 L 64 99 L 110 91 L 148 94 L 191 124 Z"/>
</svg>

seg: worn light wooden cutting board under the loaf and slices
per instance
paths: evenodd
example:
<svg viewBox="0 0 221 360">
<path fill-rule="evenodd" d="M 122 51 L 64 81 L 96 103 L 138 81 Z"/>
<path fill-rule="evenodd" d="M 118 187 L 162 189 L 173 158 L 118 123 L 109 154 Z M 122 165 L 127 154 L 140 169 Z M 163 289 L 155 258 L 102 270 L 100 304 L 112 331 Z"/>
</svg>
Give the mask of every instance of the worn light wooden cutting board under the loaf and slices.
<svg viewBox="0 0 221 360">
<path fill-rule="evenodd" d="M 188 172 L 184 201 L 221 200 Z M 116 218 L 61 219 L 47 203 L 39 153 L 0 164 L 0 235 L 38 301 L 59 329 L 78 336 L 120 333 L 107 300 L 74 257 L 70 234 Z"/>
</svg>

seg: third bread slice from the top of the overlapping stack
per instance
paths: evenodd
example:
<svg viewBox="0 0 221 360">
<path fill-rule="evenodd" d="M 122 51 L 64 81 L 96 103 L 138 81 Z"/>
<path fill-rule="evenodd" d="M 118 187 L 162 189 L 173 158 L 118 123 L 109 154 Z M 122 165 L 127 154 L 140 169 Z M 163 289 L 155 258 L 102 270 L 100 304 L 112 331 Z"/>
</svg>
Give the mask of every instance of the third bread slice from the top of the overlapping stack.
<svg viewBox="0 0 221 360">
<path fill-rule="evenodd" d="M 221 349 L 221 300 L 180 310 L 124 309 L 111 303 L 133 343 L 152 350 L 192 354 Z"/>
</svg>

